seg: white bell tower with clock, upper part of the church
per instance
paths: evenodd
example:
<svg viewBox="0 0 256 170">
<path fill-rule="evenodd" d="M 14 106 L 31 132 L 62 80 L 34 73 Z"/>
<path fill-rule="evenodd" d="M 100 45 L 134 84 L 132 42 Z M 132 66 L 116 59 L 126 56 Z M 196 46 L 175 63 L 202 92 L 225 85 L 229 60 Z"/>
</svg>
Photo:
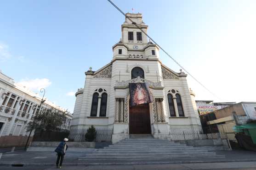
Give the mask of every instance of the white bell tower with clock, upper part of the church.
<svg viewBox="0 0 256 170">
<path fill-rule="evenodd" d="M 126 13 L 126 16 L 147 33 L 148 25 L 143 22 L 141 13 Z M 113 46 L 113 58 L 159 58 L 158 47 L 148 42 L 147 36 L 128 17 L 121 25 L 122 38 Z"/>
</svg>

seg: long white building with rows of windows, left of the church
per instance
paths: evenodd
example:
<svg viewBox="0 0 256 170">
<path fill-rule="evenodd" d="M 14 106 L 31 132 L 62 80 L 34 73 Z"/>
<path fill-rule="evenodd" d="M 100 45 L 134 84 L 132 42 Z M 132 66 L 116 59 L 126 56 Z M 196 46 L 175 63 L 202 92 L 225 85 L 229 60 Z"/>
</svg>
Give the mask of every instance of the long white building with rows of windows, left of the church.
<svg viewBox="0 0 256 170">
<path fill-rule="evenodd" d="M 45 98 L 46 99 L 46 98 Z M 28 88 L 19 87 L 14 80 L 0 71 L 0 147 L 24 146 L 29 132 L 26 132 L 29 121 L 39 110 L 56 109 L 60 112 L 63 108 L 49 100 L 40 106 L 41 97 Z M 69 129 L 72 114 L 66 115 L 62 129 Z M 32 133 L 33 136 L 33 133 Z M 30 137 L 30 141 L 32 137 Z"/>
</svg>

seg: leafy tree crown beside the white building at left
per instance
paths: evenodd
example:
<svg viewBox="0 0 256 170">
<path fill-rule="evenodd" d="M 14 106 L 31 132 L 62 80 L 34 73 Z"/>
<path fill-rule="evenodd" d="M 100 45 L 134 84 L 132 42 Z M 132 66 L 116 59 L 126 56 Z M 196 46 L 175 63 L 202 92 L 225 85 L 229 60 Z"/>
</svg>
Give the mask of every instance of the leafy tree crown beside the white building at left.
<svg viewBox="0 0 256 170">
<path fill-rule="evenodd" d="M 66 119 L 67 110 L 56 112 L 53 109 L 45 109 L 36 113 L 34 120 L 28 123 L 27 132 L 34 129 L 40 129 L 46 132 L 55 131 L 63 124 Z"/>
</svg>

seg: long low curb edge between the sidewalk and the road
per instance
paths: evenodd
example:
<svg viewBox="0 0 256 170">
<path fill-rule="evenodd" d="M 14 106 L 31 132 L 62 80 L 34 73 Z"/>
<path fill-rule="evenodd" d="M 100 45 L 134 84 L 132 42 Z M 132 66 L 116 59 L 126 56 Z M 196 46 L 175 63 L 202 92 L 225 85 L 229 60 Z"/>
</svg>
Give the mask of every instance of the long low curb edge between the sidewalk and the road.
<svg viewBox="0 0 256 170">
<path fill-rule="evenodd" d="M 158 165 L 158 164 L 194 164 L 194 163 L 225 163 L 225 162 L 254 162 L 256 159 L 234 159 L 234 160 L 219 160 L 219 161 L 169 161 L 169 162 L 120 162 L 120 163 L 63 163 L 65 166 L 96 166 L 96 165 Z M 6 162 L 0 163 L 0 166 L 55 166 L 54 163 L 19 163 Z"/>
</svg>

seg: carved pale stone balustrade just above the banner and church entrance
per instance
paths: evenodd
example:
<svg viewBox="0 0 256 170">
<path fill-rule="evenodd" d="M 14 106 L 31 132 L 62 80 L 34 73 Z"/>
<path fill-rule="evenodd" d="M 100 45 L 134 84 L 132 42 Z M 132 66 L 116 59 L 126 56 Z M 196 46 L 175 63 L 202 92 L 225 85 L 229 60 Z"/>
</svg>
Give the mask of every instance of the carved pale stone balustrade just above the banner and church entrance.
<svg viewBox="0 0 256 170">
<path fill-rule="evenodd" d="M 148 86 L 150 86 L 152 88 L 163 88 L 161 82 L 151 82 L 151 81 L 146 80 L 141 77 L 137 77 L 137 78 L 134 78 L 134 79 L 131 79 L 128 81 L 122 81 L 122 82 L 116 81 L 115 86 L 116 87 L 126 87 L 126 86 L 128 87 L 129 83 L 137 83 L 137 82 L 145 82 L 146 84 L 148 84 Z"/>
</svg>

